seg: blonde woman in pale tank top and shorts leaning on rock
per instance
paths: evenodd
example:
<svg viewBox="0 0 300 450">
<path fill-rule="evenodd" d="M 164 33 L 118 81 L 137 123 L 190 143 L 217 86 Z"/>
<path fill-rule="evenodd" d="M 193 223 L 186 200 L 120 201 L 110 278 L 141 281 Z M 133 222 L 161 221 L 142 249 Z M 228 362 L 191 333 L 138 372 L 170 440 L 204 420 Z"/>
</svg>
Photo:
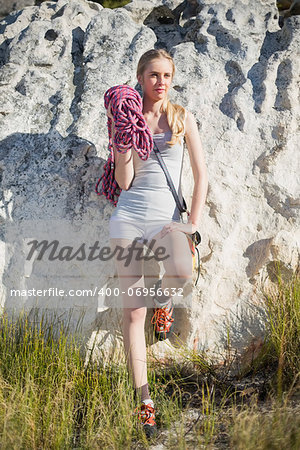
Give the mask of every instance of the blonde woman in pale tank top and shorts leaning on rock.
<svg viewBox="0 0 300 450">
<path fill-rule="evenodd" d="M 146 245 L 154 241 L 152 251 L 163 247 L 168 255 L 168 258 L 163 260 L 164 276 L 155 285 L 152 323 L 158 339 L 168 337 L 174 324 L 175 315 L 170 293 L 173 292 L 174 295 L 174 288 L 183 287 L 192 276 L 192 258 L 186 234 L 199 229 L 207 193 L 206 166 L 195 117 L 182 106 L 171 104 L 168 99 L 174 73 L 173 59 L 162 49 L 152 49 L 144 53 L 137 67 L 137 79 L 143 91 L 142 112 L 180 199 L 183 137 L 186 140 L 194 177 L 193 198 L 187 223 L 180 221 L 179 210 L 155 152 L 152 150 L 149 158 L 142 161 L 133 149 L 123 154 L 114 148 L 114 176 L 122 191 L 110 219 L 111 248 L 118 245 L 128 249 L 134 240 L 137 243 L 137 239 L 140 239 L 146 242 Z M 114 135 L 110 105 L 107 115 L 112 119 Z M 139 245 L 143 247 L 142 243 Z M 139 417 L 147 436 L 152 436 L 156 432 L 156 423 L 154 403 L 147 383 L 144 333 L 147 307 L 143 296 L 132 295 L 132 290 L 144 287 L 143 261 L 132 260 L 126 265 L 124 260 L 116 259 L 115 263 L 122 292 L 125 352 L 136 395 L 141 401 Z"/>
</svg>

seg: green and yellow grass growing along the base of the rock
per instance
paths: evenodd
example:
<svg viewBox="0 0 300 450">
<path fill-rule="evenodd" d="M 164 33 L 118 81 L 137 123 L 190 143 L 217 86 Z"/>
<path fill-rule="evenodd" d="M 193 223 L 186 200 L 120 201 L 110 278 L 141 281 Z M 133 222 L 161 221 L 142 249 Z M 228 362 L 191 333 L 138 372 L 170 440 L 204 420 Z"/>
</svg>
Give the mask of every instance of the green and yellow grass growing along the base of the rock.
<svg viewBox="0 0 300 450">
<path fill-rule="evenodd" d="M 241 376 L 230 376 L 234 352 L 223 366 L 184 346 L 178 348 L 181 363 L 149 358 L 159 443 L 174 449 L 300 448 L 299 286 L 297 276 L 287 282 L 278 277 L 277 289 L 265 295 L 265 342 L 252 367 L 259 387 L 238 387 Z M 57 324 L 44 317 L 30 322 L 25 314 L 0 319 L 1 449 L 147 448 L 133 415 L 137 404 L 125 358 L 113 350 L 97 363 L 87 360 L 79 340 Z"/>
</svg>

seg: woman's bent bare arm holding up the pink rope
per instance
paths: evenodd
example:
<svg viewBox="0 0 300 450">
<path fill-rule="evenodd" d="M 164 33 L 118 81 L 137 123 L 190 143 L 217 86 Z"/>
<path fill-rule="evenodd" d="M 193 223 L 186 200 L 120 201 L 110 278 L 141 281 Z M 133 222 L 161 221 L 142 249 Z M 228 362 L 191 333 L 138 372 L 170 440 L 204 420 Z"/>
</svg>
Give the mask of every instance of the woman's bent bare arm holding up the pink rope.
<svg viewBox="0 0 300 450">
<path fill-rule="evenodd" d="M 128 150 L 126 153 L 120 153 L 115 148 L 114 136 L 115 136 L 115 122 L 110 109 L 110 103 L 107 108 L 107 117 L 111 119 L 111 132 L 112 132 L 112 142 L 114 149 L 114 160 L 115 160 L 115 179 L 121 189 L 127 191 L 134 178 L 134 167 L 133 167 L 133 155 L 132 149 Z"/>
</svg>

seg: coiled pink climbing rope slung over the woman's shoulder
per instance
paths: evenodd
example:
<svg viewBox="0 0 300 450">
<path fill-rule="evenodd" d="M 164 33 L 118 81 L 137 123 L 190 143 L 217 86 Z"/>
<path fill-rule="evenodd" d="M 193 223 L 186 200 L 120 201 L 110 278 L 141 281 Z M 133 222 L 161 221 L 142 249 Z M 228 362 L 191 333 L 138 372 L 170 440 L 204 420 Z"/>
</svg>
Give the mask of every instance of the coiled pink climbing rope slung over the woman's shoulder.
<svg viewBox="0 0 300 450">
<path fill-rule="evenodd" d="M 140 94 L 126 84 L 113 86 L 104 94 L 106 109 L 109 102 L 111 102 L 111 113 L 115 123 L 114 144 L 116 150 L 126 153 L 133 148 L 143 161 L 147 160 L 153 149 L 153 136 L 142 113 L 143 100 Z M 114 177 L 115 159 L 110 118 L 108 118 L 107 127 L 110 154 L 103 166 L 104 172 L 96 183 L 95 192 L 98 195 L 104 195 L 114 206 L 117 206 L 122 189 Z"/>
</svg>

